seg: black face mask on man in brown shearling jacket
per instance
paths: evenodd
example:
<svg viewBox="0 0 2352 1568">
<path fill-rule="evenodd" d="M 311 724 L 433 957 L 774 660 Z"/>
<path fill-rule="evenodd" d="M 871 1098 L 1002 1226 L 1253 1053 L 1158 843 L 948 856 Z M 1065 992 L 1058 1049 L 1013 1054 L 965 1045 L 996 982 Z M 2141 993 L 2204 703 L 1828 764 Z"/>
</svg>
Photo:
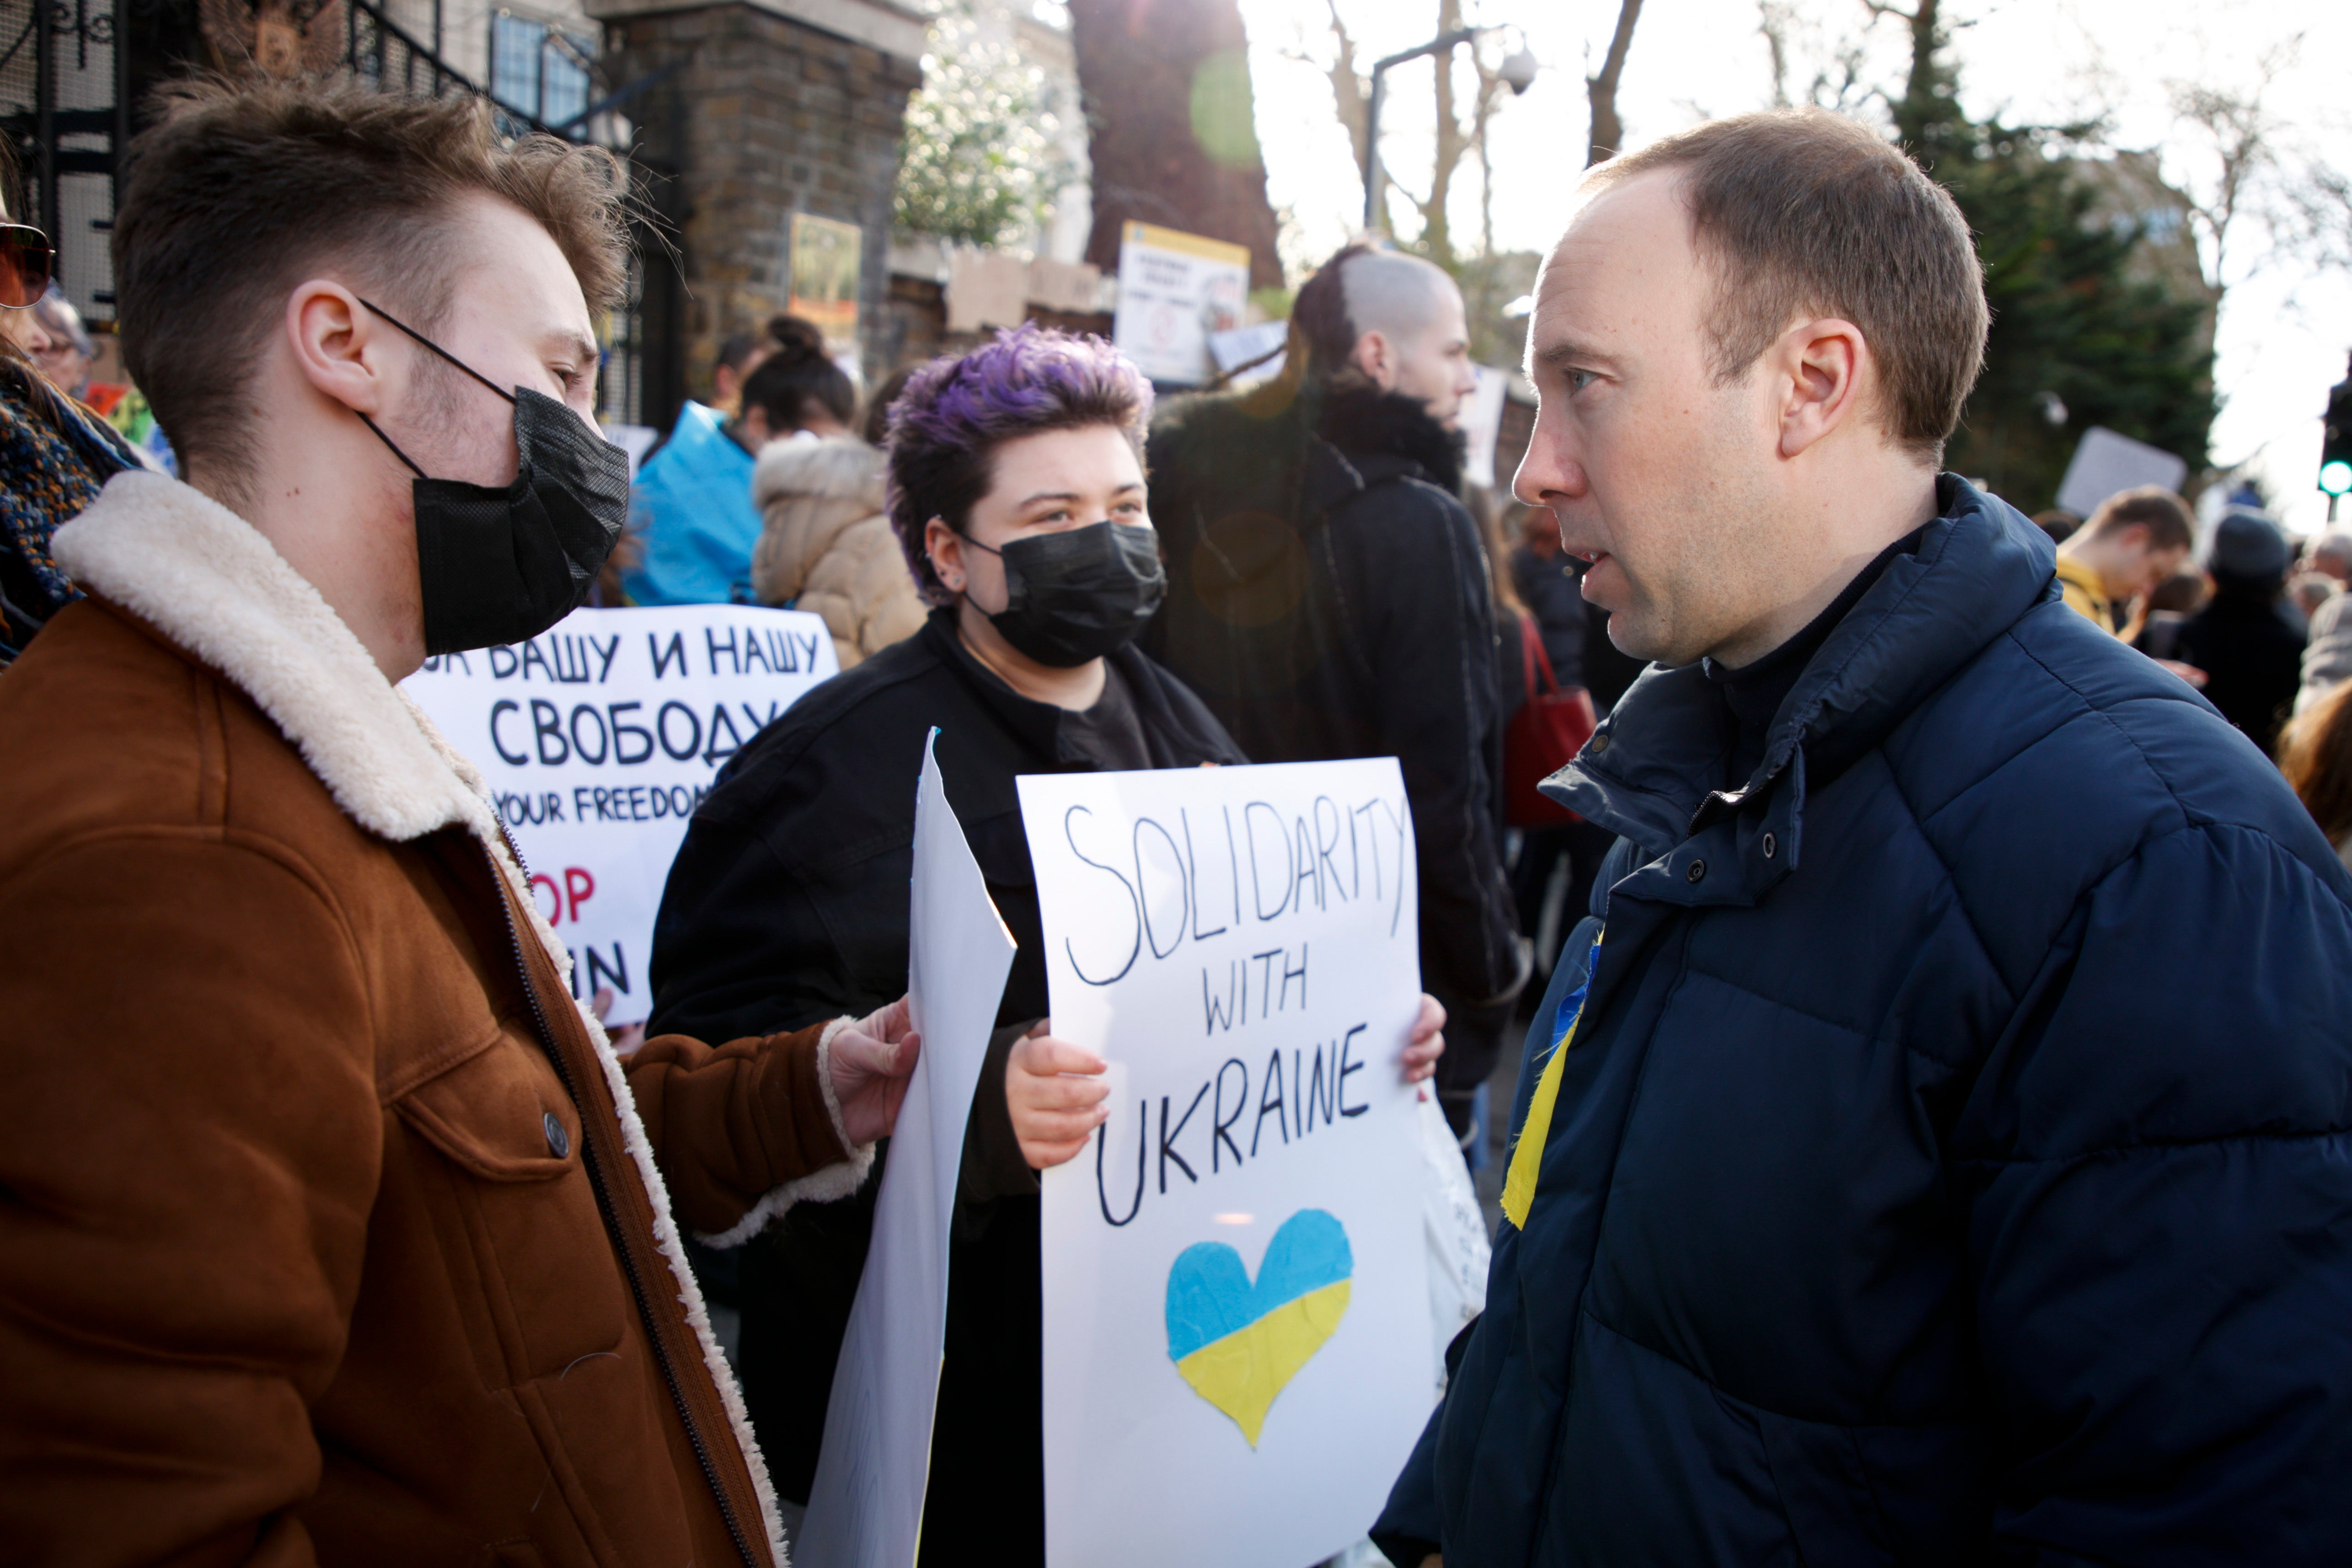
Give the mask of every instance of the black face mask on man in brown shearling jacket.
<svg viewBox="0 0 2352 1568">
<path fill-rule="evenodd" d="M 416 475 L 416 574 L 423 588 L 426 654 L 463 654 L 522 642 L 588 599 L 604 557 L 628 522 L 628 458 L 543 393 L 499 390 L 447 348 L 360 301 L 449 364 L 515 404 L 515 482 L 494 489 L 428 480 L 360 414 L 376 440 Z"/>
</svg>

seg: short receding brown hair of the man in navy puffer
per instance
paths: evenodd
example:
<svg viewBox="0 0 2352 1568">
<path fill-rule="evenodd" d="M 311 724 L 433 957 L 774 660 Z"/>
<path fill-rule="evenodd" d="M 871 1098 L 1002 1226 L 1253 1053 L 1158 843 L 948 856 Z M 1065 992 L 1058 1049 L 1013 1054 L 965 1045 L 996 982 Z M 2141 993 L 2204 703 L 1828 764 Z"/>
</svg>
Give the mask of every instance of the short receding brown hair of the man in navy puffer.
<svg viewBox="0 0 2352 1568">
<path fill-rule="evenodd" d="M 1717 273 L 1715 374 L 1736 381 L 1804 310 L 1863 329 L 1879 421 L 1933 463 L 1985 362 L 1985 275 L 1950 193 L 1865 125 L 1823 108 L 1712 120 L 1599 165 L 1611 186 L 1682 174 Z"/>
</svg>

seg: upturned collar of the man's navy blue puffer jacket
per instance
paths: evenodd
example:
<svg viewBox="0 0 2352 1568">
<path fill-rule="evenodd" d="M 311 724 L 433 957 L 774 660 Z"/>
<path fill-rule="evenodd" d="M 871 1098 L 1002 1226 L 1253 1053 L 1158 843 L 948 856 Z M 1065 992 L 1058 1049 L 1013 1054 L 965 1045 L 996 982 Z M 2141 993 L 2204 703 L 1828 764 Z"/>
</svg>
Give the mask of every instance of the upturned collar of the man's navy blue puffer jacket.
<svg viewBox="0 0 2352 1568">
<path fill-rule="evenodd" d="M 2056 592 L 2049 536 L 2006 501 L 1940 475 L 1936 520 L 1919 548 L 1889 562 L 1806 663 L 1745 785 L 1717 788 L 1729 733 L 1722 698 L 1700 665 L 1651 665 L 1585 750 L 1543 780 L 1543 792 L 1649 856 L 1722 813 L 1757 813 L 1740 842 L 1752 849 L 1771 832 L 1773 853 L 1743 851 L 1738 891 L 1733 879 L 1717 879 L 1705 896 L 1752 900 L 1799 863 L 1806 788 L 1853 766 Z"/>
</svg>

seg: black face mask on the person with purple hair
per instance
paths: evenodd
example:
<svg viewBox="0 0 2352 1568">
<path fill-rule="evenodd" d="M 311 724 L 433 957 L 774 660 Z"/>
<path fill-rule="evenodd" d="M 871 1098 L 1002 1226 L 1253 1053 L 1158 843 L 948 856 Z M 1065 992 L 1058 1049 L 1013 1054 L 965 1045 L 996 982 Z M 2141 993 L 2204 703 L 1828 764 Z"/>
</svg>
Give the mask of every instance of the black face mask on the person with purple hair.
<svg viewBox="0 0 2352 1568">
<path fill-rule="evenodd" d="M 988 616 L 1004 642 L 1042 665 L 1070 670 L 1134 642 L 1167 597 L 1160 534 L 1136 522 L 1094 522 L 1030 534 L 1002 550 L 1004 609 Z"/>
</svg>

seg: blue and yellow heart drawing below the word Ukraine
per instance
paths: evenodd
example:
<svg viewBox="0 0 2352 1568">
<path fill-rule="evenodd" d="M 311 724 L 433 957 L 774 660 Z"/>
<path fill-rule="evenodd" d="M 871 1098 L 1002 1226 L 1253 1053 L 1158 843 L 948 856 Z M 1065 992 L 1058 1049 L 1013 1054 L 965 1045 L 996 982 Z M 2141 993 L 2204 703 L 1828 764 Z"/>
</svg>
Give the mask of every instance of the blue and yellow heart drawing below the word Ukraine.
<svg viewBox="0 0 2352 1568">
<path fill-rule="evenodd" d="M 1169 1361 L 1256 1448 L 1275 1394 L 1348 1314 L 1352 1274 L 1348 1232 L 1322 1208 L 1275 1229 L 1256 1284 L 1237 1251 L 1197 1241 L 1169 1269 Z"/>
</svg>

